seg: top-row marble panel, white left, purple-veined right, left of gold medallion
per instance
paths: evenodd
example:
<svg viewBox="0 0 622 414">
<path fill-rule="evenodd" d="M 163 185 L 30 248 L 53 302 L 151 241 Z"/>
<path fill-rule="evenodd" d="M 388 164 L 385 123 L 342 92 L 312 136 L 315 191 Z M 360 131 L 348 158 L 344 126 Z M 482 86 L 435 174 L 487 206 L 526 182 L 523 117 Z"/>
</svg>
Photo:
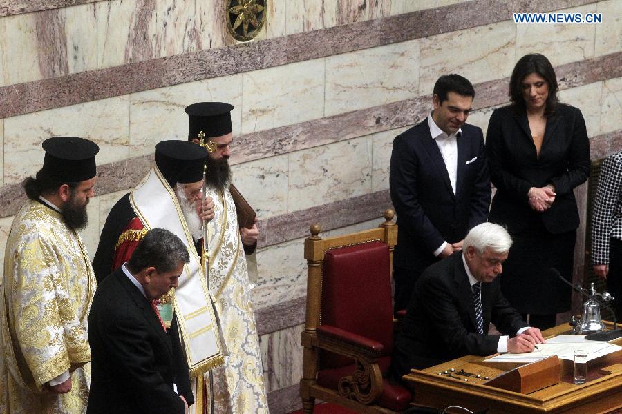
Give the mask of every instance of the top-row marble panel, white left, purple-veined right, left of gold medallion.
<svg viewBox="0 0 622 414">
<path fill-rule="evenodd" d="M 156 0 L 96 4 L 98 68 L 156 57 Z"/>
</svg>

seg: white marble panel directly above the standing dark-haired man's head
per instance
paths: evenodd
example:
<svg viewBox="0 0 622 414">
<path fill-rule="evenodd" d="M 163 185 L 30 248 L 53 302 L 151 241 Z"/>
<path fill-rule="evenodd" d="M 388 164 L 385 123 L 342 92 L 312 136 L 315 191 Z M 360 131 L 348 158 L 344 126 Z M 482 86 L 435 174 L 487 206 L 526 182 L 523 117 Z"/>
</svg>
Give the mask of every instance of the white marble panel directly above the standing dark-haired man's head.
<svg viewBox="0 0 622 414">
<path fill-rule="evenodd" d="M 449 73 L 471 83 L 508 77 L 515 35 L 516 24 L 503 21 L 420 39 L 419 94 L 431 94 L 438 77 Z"/>
</svg>

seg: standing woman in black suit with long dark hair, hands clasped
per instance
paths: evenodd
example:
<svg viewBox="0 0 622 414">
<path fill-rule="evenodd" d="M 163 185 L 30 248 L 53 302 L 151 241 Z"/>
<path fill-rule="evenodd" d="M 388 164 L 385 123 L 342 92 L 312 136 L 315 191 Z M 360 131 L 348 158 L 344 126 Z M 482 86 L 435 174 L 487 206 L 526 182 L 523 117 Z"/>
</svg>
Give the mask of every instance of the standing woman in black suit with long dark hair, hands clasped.
<svg viewBox="0 0 622 414">
<path fill-rule="evenodd" d="M 590 172 L 581 110 L 557 99 L 557 78 L 539 54 L 512 72 L 511 104 L 491 115 L 487 152 L 497 188 L 489 220 L 507 226 L 513 246 L 500 276 L 502 292 L 529 324 L 546 329 L 570 308 L 574 241 L 579 224 L 573 190 Z"/>
</svg>

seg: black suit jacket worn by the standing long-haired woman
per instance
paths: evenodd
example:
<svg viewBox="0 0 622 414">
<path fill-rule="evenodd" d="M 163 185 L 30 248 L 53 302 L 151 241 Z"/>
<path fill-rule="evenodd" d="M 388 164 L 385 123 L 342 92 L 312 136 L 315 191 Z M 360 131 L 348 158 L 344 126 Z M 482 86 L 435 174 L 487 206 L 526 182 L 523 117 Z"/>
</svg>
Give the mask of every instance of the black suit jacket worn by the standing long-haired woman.
<svg viewBox="0 0 622 414">
<path fill-rule="evenodd" d="M 539 158 L 525 111 L 516 112 L 511 106 L 496 109 L 486 136 L 491 181 L 497 188 L 490 221 L 505 224 L 511 234 L 529 231 L 534 217 L 550 233 L 576 229 L 579 216 L 572 190 L 590 173 L 590 142 L 581 111 L 558 104 L 555 115 L 547 119 Z M 534 213 L 529 188 L 547 184 L 556 188 L 555 201 L 544 213 Z"/>
</svg>

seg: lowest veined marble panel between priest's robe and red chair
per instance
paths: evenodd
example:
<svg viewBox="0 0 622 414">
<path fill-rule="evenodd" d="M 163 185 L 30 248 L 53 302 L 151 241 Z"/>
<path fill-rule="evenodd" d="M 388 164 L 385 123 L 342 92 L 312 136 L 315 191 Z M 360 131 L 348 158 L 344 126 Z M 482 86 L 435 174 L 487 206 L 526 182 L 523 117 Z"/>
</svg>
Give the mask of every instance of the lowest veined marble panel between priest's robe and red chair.
<svg viewBox="0 0 622 414">
<path fill-rule="evenodd" d="M 300 382 L 303 367 L 300 335 L 304 330 L 305 326 L 301 324 L 259 337 L 267 392 Z"/>
</svg>

